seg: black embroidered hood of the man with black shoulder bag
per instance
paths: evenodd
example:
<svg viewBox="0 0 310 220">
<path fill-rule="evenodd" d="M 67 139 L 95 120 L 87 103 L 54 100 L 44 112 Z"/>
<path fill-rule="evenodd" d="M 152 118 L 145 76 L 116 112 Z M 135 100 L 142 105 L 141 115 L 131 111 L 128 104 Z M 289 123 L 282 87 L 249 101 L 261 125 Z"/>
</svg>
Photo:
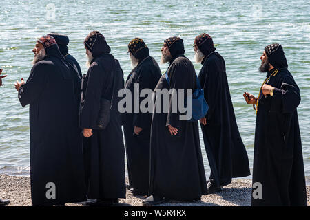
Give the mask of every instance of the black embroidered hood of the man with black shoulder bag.
<svg viewBox="0 0 310 220">
<path fill-rule="evenodd" d="M 94 58 L 100 56 L 101 54 L 109 54 L 111 48 L 107 45 L 105 37 L 98 31 L 92 31 L 88 34 L 84 40 L 84 45 L 87 47 Z"/>
</svg>

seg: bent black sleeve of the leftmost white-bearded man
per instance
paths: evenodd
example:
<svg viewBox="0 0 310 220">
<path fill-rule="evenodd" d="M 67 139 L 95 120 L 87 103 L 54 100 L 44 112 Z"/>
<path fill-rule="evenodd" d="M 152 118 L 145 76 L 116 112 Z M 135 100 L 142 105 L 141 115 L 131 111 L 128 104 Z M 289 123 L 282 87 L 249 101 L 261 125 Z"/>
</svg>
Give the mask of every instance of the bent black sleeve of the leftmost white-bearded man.
<svg viewBox="0 0 310 220">
<path fill-rule="evenodd" d="M 39 98 L 46 87 L 47 79 L 45 72 L 49 68 L 50 65 L 44 63 L 37 63 L 32 67 L 27 82 L 19 88 L 18 97 L 22 107 L 31 104 Z"/>
</svg>

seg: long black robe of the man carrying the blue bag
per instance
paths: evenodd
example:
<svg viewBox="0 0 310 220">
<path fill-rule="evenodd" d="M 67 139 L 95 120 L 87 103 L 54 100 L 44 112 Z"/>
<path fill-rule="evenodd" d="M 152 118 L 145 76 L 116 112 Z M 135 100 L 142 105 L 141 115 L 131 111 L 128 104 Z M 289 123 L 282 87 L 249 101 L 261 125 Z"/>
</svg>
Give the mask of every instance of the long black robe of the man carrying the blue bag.
<svg viewBox="0 0 310 220">
<path fill-rule="evenodd" d="M 194 89 L 196 73 L 185 56 L 177 56 L 160 78 L 156 89 Z M 186 91 L 185 91 L 186 94 Z M 155 103 L 158 93 L 154 91 Z M 161 102 L 163 102 L 163 97 Z M 163 104 L 169 104 L 169 112 L 163 113 Z M 169 199 L 200 199 L 207 193 L 205 169 L 201 155 L 198 122 L 179 120 L 180 113 L 172 113 L 171 100 L 161 104 L 161 112 L 152 116 L 151 170 L 149 195 Z M 158 109 L 157 109 L 158 111 Z M 178 129 L 171 135 L 167 125 Z"/>
</svg>

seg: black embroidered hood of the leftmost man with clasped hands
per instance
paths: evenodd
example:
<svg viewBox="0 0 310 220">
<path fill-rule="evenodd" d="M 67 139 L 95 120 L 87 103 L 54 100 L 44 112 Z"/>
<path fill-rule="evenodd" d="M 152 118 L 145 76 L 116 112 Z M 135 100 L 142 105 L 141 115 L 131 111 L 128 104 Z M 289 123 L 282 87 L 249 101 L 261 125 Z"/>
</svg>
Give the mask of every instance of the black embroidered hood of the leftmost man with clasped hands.
<svg viewBox="0 0 310 220">
<path fill-rule="evenodd" d="M 63 58 L 63 55 L 59 51 L 59 47 L 54 37 L 49 35 L 42 36 L 37 40 L 37 42 L 43 44 L 47 58 L 50 58 L 51 60 L 53 60 L 53 58 L 57 58 L 62 63 L 62 65 L 65 65 L 65 67 L 69 68 L 67 63 L 65 63 L 65 58 Z M 63 75 L 64 79 L 72 78 L 69 69 L 68 71 L 61 71 L 61 74 Z"/>
</svg>

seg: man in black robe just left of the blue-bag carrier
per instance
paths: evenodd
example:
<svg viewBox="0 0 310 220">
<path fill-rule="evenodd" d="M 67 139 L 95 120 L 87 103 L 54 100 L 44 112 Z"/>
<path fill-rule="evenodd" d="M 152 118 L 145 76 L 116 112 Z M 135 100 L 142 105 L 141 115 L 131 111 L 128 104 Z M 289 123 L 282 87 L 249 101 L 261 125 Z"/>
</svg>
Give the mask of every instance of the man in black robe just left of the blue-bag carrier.
<svg viewBox="0 0 310 220">
<path fill-rule="evenodd" d="M 128 52 L 132 62 L 132 72 L 127 77 L 125 88 L 132 94 L 134 103 L 134 84 L 138 85 L 136 94 L 141 90 L 154 90 L 161 69 L 142 39 L 133 39 L 128 44 Z M 151 97 L 152 98 L 152 97 Z M 139 106 L 144 98 L 139 98 Z M 147 104 L 145 107 L 148 107 Z M 149 190 L 149 138 L 151 135 L 152 111 L 143 113 L 141 109 L 123 114 L 123 129 L 125 135 L 127 170 L 130 179 L 130 190 L 134 195 L 147 195 Z"/>
</svg>

